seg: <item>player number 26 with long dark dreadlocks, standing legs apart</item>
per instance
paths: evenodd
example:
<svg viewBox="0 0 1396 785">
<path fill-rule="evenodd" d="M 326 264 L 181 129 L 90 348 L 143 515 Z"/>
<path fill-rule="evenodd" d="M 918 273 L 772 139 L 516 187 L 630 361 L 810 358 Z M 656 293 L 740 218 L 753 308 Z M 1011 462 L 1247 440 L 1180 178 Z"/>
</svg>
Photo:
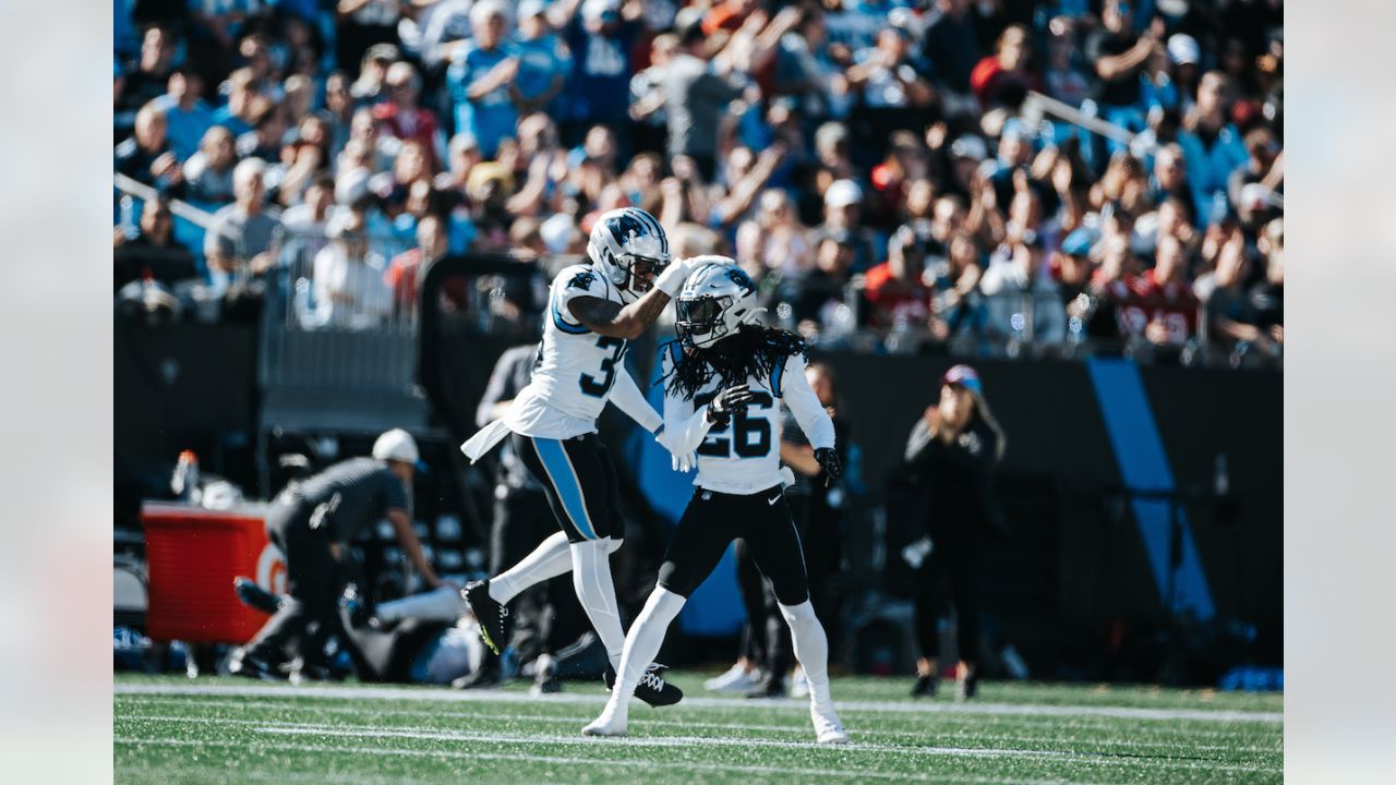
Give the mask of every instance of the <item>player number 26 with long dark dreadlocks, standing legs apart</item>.
<svg viewBox="0 0 1396 785">
<path fill-rule="evenodd" d="M 815 736 L 821 743 L 846 743 L 829 696 L 828 638 L 810 605 L 804 553 L 785 501 L 783 486 L 794 478 L 780 468 L 785 402 L 829 480 L 842 474 L 833 422 L 804 376 L 804 342 L 752 321 L 755 286 L 732 260 L 695 270 L 676 305 L 680 339 L 662 355 L 660 441 L 674 455 L 697 451 L 694 496 L 669 541 L 659 582 L 625 637 L 618 683 L 582 733 L 625 735 L 631 691 L 659 654 L 664 631 L 727 545 L 743 538 L 790 624 L 794 655 L 810 680 Z"/>
</svg>

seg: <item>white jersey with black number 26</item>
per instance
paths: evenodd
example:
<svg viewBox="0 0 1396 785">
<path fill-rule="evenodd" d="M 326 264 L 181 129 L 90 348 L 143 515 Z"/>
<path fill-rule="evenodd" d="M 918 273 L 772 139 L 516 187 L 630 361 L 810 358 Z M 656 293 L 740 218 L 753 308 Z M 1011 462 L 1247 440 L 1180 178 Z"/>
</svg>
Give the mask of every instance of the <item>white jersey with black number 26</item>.
<svg viewBox="0 0 1396 785">
<path fill-rule="evenodd" d="M 677 341 L 660 358 L 667 376 L 678 360 Z M 692 360 L 687 360 L 692 362 Z M 833 447 L 833 420 L 804 376 L 804 358 L 792 355 L 771 379 L 747 379 L 757 399 L 734 412 L 727 425 L 708 422 L 706 408 L 718 392 L 738 384 L 711 380 L 694 398 L 664 391 L 664 430 L 697 454 L 694 485 L 705 490 L 750 496 L 780 485 L 780 404 L 790 409 L 815 448 Z"/>
</svg>

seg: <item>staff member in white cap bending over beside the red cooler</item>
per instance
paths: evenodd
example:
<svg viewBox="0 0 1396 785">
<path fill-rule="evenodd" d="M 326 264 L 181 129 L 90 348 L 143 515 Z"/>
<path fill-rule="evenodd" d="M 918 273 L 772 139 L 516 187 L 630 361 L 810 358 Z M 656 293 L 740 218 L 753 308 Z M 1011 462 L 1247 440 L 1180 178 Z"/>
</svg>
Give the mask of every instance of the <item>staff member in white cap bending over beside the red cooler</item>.
<svg viewBox="0 0 1396 785">
<path fill-rule="evenodd" d="M 412 434 L 392 429 L 378 436 L 371 457 L 341 461 L 276 496 L 267 511 L 267 536 L 286 559 L 288 596 L 257 636 L 233 651 L 229 673 L 276 680 L 324 672 L 325 638 L 336 627 L 335 603 L 345 588 L 341 553 L 380 518 L 392 524 L 426 588 L 443 585 L 412 529 L 419 460 Z"/>
</svg>

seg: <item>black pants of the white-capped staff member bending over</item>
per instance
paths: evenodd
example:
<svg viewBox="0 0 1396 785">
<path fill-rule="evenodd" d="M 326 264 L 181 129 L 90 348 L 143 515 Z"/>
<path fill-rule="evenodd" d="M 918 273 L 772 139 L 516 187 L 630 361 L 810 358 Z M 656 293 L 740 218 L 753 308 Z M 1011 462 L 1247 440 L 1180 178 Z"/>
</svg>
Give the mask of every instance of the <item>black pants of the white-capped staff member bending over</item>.
<svg viewBox="0 0 1396 785">
<path fill-rule="evenodd" d="M 311 529 L 314 507 L 282 493 L 267 513 L 267 536 L 286 556 L 286 598 L 281 610 L 247 644 L 253 656 L 276 663 L 282 650 L 300 640 L 309 662 L 324 656 L 325 638 L 336 629 L 336 599 L 343 591 L 342 573 L 329 552 L 329 532 Z"/>
</svg>

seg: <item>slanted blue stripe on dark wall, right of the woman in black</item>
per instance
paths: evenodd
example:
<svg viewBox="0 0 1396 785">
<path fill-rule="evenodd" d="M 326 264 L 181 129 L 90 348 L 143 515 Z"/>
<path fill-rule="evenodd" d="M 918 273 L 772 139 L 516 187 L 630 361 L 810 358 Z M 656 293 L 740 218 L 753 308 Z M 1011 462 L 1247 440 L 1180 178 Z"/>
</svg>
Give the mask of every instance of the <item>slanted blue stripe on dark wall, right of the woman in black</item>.
<svg viewBox="0 0 1396 785">
<path fill-rule="evenodd" d="M 1120 464 L 1120 475 L 1134 490 L 1171 492 L 1173 469 L 1163 450 L 1159 426 L 1139 377 L 1139 367 L 1129 360 L 1090 359 L 1090 381 L 1106 419 L 1106 432 Z M 1168 602 L 1168 503 L 1161 499 L 1135 499 L 1131 503 L 1139 538 L 1143 541 L 1163 603 Z M 1208 591 L 1206 574 L 1192 542 L 1192 527 L 1185 511 L 1178 511 L 1182 527 L 1182 562 L 1175 574 L 1174 610 L 1191 609 L 1199 619 L 1210 619 L 1216 609 Z"/>
</svg>

